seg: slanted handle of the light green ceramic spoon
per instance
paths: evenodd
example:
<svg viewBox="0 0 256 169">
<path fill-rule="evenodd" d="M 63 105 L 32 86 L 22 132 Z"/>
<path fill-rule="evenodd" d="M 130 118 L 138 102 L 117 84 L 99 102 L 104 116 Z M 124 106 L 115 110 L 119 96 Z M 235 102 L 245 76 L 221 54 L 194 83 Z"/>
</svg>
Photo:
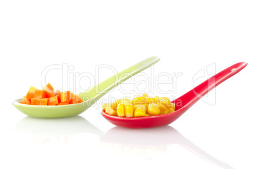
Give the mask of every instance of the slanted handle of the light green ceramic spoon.
<svg viewBox="0 0 256 169">
<path fill-rule="evenodd" d="M 79 95 L 83 99 L 83 101 L 93 100 L 94 102 L 92 104 L 94 104 L 99 98 L 103 97 L 103 95 L 108 93 L 108 91 L 110 91 L 112 88 L 115 88 L 125 80 L 131 78 L 135 74 L 138 74 L 138 72 L 141 72 L 146 68 L 152 66 L 159 60 L 159 57 L 147 58 L 136 65 L 132 65 L 131 67 L 125 69 L 122 72 L 118 72 L 118 74 L 115 74 L 111 78 L 106 79 L 105 81 L 99 83 L 98 85 L 90 88 L 87 91 L 80 93 Z"/>
</svg>

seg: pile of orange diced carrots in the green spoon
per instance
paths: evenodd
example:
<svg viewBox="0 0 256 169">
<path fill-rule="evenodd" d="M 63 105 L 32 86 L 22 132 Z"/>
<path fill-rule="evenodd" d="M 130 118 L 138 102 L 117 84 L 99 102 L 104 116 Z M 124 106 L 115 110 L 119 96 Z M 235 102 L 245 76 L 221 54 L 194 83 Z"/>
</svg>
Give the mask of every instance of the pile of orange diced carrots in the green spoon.
<svg viewBox="0 0 256 169">
<path fill-rule="evenodd" d="M 42 90 L 31 86 L 27 95 L 22 98 L 20 104 L 30 105 L 67 105 L 79 104 L 83 100 L 71 91 L 54 90 L 52 85 L 48 83 Z"/>
</svg>

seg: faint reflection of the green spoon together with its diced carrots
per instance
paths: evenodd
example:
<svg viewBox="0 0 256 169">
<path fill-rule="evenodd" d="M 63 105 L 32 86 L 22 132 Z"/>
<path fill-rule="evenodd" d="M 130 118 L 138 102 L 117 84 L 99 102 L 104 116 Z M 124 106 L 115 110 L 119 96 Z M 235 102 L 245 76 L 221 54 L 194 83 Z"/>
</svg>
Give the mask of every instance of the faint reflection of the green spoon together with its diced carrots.
<svg viewBox="0 0 256 169">
<path fill-rule="evenodd" d="M 82 116 L 51 119 L 27 116 L 21 119 L 12 131 L 22 135 L 28 144 L 44 148 L 55 144 L 68 145 L 70 138 L 80 133 L 93 134 L 96 137 L 103 135 L 101 130 Z"/>
</svg>

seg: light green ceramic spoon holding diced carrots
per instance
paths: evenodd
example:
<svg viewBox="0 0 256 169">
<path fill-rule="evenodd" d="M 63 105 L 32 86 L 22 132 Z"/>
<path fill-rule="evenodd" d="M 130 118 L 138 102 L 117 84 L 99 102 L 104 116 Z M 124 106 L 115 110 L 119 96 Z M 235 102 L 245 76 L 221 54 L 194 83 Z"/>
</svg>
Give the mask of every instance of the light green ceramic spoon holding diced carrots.
<svg viewBox="0 0 256 169">
<path fill-rule="evenodd" d="M 36 118 L 63 118 L 69 116 L 76 116 L 88 109 L 93 105 L 99 98 L 103 97 L 112 88 L 120 85 L 123 81 L 131 78 L 138 72 L 145 70 L 146 68 L 152 66 L 160 60 L 159 57 L 150 57 L 136 65 L 132 65 L 118 74 L 115 74 L 109 79 L 99 83 L 98 85 L 90 88 L 87 91 L 80 93 L 80 97 L 83 102 L 80 104 L 71 105 L 27 105 L 20 104 L 19 98 L 13 100 L 12 104 L 21 112 L 27 116 L 33 116 Z"/>
</svg>

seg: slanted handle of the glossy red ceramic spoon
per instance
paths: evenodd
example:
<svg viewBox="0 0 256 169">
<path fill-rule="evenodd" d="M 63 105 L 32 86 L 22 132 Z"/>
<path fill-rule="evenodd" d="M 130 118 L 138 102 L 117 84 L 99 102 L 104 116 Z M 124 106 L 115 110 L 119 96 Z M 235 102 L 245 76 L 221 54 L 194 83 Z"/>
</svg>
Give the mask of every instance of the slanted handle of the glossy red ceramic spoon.
<svg viewBox="0 0 256 169">
<path fill-rule="evenodd" d="M 177 98 L 173 101 L 176 104 L 176 110 L 180 109 L 185 105 L 187 108 L 191 107 L 197 102 L 197 100 L 206 95 L 206 93 L 208 93 L 216 86 L 220 85 L 220 83 L 224 82 L 226 79 L 237 74 L 239 71 L 245 68 L 246 65 L 247 63 L 245 62 L 239 62 L 238 64 L 231 65 L 231 67 L 228 67 L 227 69 L 224 69 L 218 74 L 215 74 L 215 76 L 212 76 L 208 80 L 188 91 L 187 93 L 185 93 L 185 95 Z"/>
</svg>

